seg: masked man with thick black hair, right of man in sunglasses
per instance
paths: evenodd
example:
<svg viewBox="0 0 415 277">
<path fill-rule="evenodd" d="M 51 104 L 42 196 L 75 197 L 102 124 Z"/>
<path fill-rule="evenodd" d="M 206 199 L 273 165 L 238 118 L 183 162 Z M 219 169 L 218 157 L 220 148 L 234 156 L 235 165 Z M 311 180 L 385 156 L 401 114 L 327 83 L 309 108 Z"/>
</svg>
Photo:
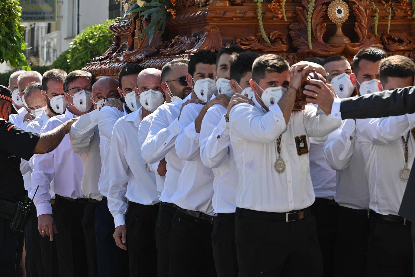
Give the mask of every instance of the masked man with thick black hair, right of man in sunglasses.
<svg viewBox="0 0 415 277">
<path fill-rule="evenodd" d="M 226 106 L 224 100 L 229 100 L 220 95 L 208 101 L 216 93 L 215 69 L 216 54 L 211 51 L 199 51 L 189 59 L 187 82 L 193 89 L 192 100 L 183 105 L 176 121 L 176 153 L 183 159 L 183 169 L 171 197 L 177 208 L 170 236 L 171 276 L 216 275 L 210 239 L 213 172 L 202 163 L 199 148 L 200 126 L 207 110 L 215 103 Z"/>
</svg>

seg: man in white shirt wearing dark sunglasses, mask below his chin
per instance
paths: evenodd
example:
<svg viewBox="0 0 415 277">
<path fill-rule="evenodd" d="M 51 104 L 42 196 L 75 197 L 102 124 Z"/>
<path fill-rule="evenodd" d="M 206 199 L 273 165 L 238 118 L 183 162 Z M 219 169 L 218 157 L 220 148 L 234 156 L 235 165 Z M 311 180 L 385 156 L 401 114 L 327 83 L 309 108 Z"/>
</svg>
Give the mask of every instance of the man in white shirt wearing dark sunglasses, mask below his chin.
<svg viewBox="0 0 415 277">
<path fill-rule="evenodd" d="M 188 60 L 166 64 L 161 71 L 161 87 L 166 99 L 171 94 L 171 103 L 161 105 L 152 113 L 153 119 L 149 133 L 142 145 L 142 157 L 147 163 L 166 160 L 166 176 L 159 200 L 161 201 L 156 224 L 156 243 L 158 255 L 158 276 L 169 272 L 169 240 L 176 205 L 171 196 L 177 189 L 177 181 L 182 169 L 182 160 L 177 157 L 175 141 L 178 135 L 177 117 L 183 103 L 191 99 L 191 87 L 186 81 Z M 176 70 L 171 70 L 175 66 Z M 170 68 L 168 70 L 168 68 Z M 184 77 L 184 78 L 183 78 Z"/>
</svg>

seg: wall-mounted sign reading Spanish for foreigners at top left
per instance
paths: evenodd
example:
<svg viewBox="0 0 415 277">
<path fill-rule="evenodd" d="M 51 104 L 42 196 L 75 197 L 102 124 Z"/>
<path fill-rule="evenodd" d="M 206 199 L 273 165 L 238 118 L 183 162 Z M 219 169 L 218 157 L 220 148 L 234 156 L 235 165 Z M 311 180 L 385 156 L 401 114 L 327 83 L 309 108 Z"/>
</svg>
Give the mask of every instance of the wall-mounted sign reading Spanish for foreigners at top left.
<svg viewBox="0 0 415 277">
<path fill-rule="evenodd" d="M 56 21 L 56 0 L 20 0 L 22 21 Z"/>
</svg>

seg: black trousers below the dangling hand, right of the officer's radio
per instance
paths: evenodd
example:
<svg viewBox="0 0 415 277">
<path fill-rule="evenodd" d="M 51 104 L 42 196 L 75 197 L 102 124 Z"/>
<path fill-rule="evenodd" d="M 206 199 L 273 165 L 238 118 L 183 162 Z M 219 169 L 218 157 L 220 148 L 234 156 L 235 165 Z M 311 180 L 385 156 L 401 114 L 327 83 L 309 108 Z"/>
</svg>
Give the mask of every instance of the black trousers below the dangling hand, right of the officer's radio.
<svg viewBox="0 0 415 277">
<path fill-rule="evenodd" d="M 53 205 L 52 205 L 53 206 Z M 59 277 L 56 242 L 39 234 L 36 207 L 32 206 L 24 230 L 26 244 L 26 277 Z"/>
</svg>

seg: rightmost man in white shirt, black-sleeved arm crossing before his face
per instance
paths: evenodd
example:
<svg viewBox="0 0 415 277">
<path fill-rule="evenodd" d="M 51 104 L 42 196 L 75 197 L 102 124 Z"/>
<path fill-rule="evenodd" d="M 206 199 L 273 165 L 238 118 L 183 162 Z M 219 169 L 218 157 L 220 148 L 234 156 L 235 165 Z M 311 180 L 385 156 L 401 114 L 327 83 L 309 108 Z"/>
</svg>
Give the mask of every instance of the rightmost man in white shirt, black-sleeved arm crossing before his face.
<svg viewBox="0 0 415 277">
<path fill-rule="evenodd" d="M 415 64 L 405 56 L 383 59 L 379 90 L 412 86 Z M 415 115 L 356 119 L 366 162 L 371 209 L 369 276 L 411 276 L 410 223 L 398 216 L 415 154 Z"/>
</svg>

